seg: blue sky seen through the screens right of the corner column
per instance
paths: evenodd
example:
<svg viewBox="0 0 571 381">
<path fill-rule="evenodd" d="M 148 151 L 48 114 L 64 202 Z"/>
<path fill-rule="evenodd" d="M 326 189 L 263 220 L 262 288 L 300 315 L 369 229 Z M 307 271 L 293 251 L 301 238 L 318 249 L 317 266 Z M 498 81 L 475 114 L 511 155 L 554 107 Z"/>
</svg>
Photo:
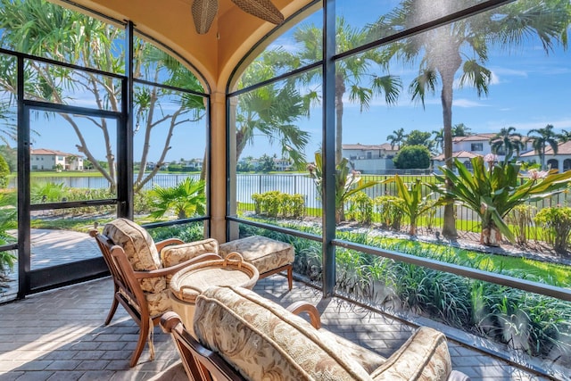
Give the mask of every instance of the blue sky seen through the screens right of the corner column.
<svg viewBox="0 0 571 381">
<path fill-rule="evenodd" d="M 357 27 L 374 21 L 363 19 L 374 12 L 359 12 L 363 2 L 349 2 L 343 13 L 347 21 L 355 22 Z M 361 18 L 354 17 L 360 13 Z M 312 21 L 319 25 L 320 15 Z M 352 24 L 353 25 L 353 24 Z M 277 39 L 276 45 L 295 49 L 293 38 L 289 34 Z M 403 90 L 398 104 L 387 106 L 383 99 L 377 98 L 366 112 L 360 112 L 359 104 L 352 104 L 348 95 L 343 99 L 343 143 L 377 145 L 385 143 L 386 137 L 394 130 L 404 128 L 405 132 L 420 129 L 432 132 L 443 126 L 443 112 L 440 100 L 440 88 L 434 95 L 426 98 L 426 107 L 413 104 L 407 93 L 410 79 L 416 74 L 418 62 L 403 67 L 391 65 L 391 74 L 402 79 Z M 515 127 L 525 135 L 532 128 L 543 128 L 552 124 L 556 130 L 571 130 L 571 54 L 561 46 L 546 54 L 538 40 L 529 40 L 524 46 L 511 51 L 501 47 L 492 47 L 486 68 L 492 70 L 492 82 L 487 96 L 478 98 L 472 87 L 454 89 L 452 106 L 452 124 L 464 123 L 473 133 L 498 132 L 501 128 Z M 457 76 L 458 77 L 458 76 Z M 311 133 L 313 139 L 306 153 L 319 149 L 321 138 L 320 112 L 317 117 L 302 120 L 302 128 Z M 246 149 L 244 154 L 254 157 L 264 149 L 278 153 L 279 147 L 264 148 L 261 138 L 255 145 Z M 267 145 L 266 145 L 267 146 Z"/>
</svg>

